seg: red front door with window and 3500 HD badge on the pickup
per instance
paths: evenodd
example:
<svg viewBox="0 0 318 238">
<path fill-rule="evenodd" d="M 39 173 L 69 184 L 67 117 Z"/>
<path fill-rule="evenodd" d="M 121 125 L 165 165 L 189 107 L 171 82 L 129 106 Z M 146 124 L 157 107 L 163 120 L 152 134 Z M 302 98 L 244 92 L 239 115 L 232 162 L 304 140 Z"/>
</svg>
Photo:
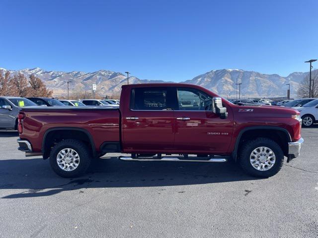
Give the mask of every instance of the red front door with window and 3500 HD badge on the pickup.
<svg viewBox="0 0 318 238">
<path fill-rule="evenodd" d="M 176 151 L 226 153 L 232 138 L 232 111 L 228 110 L 228 119 L 220 119 L 219 115 L 206 111 L 206 107 L 212 102 L 212 96 L 186 87 L 177 88 L 176 93 L 179 107 L 174 111 Z"/>
</svg>

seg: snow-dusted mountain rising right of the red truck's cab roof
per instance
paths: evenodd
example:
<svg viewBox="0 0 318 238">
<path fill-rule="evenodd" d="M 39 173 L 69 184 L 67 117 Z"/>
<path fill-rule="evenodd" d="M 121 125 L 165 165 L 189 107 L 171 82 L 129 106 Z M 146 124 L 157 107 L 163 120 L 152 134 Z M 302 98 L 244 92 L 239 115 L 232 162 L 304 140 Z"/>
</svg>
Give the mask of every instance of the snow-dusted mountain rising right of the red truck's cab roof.
<svg viewBox="0 0 318 238">
<path fill-rule="evenodd" d="M 296 96 L 300 82 L 307 75 L 303 72 L 294 72 L 287 77 L 278 74 L 263 74 L 242 69 L 219 69 L 201 74 L 185 83 L 197 84 L 220 96 L 234 97 L 237 93 L 236 83 L 242 83 L 243 97 L 279 97 L 286 96 L 290 83 L 291 96 Z"/>
</svg>

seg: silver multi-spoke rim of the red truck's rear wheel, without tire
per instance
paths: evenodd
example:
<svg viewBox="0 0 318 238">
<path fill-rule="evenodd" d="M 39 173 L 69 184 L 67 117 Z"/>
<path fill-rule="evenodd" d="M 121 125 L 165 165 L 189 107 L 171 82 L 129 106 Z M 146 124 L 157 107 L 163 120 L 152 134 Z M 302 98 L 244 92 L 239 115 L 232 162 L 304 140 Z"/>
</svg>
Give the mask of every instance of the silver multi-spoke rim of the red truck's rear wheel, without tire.
<svg viewBox="0 0 318 238">
<path fill-rule="evenodd" d="M 65 148 L 58 153 L 56 161 L 62 170 L 73 171 L 79 166 L 79 154 L 71 148 Z"/>
</svg>

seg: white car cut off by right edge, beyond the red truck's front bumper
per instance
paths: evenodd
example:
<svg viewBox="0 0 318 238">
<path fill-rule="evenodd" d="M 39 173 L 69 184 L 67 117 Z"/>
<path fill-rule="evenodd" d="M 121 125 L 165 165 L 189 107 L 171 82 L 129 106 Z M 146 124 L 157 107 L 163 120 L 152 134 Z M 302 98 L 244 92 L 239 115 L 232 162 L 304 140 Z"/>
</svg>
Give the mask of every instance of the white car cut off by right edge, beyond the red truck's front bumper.
<svg viewBox="0 0 318 238">
<path fill-rule="evenodd" d="M 318 122 L 318 99 L 303 105 L 303 107 L 295 107 L 303 119 L 303 126 L 309 127 Z"/>
</svg>

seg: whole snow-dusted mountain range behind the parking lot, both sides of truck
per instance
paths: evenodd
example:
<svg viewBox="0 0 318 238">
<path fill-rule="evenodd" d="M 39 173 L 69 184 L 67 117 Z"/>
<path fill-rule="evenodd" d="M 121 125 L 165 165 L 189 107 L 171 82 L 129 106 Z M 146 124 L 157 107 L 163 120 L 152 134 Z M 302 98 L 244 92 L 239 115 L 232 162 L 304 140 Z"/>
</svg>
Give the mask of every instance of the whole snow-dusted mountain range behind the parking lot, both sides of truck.
<svg viewBox="0 0 318 238">
<path fill-rule="evenodd" d="M 0 68 L 3 71 L 8 69 Z M 121 86 L 127 84 L 127 76 L 121 72 L 110 70 L 99 70 L 96 72 L 82 71 L 46 71 L 41 68 L 25 68 L 20 70 L 9 70 L 12 74 L 23 73 L 25 76 L 35 74 L 46 86 L 53 90 L 54 96 L 66 95 L 67 83 L 69 84 L 70 93 L 75 92 L 91 92 L 92 84 L 97 85 L 97 94 L 100 96 L 119 95 Z M 297 89 L 300 82 L 308 72 L 293 72 L 287 77 L 278 74 L 263 74 L 255 71 L 246 71 L 242 69 L 218 69 L 211 70 L 200 74 L 193 79 L 186 80 L 184 83 L 191 83 L 203 86 L 220 96 L 228 96 L 235 98 L 237 93 L 237 80 L 240 85 L 241 97 L 283 97 L 287 94 L 290 83 L 291 97 L 297 95 Z M 137 77 L 129 77 L 129 83 L 164 83 L 162 80 L 139 79 Z"/>
</svg>

